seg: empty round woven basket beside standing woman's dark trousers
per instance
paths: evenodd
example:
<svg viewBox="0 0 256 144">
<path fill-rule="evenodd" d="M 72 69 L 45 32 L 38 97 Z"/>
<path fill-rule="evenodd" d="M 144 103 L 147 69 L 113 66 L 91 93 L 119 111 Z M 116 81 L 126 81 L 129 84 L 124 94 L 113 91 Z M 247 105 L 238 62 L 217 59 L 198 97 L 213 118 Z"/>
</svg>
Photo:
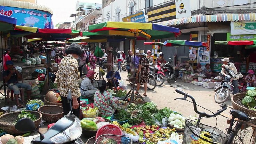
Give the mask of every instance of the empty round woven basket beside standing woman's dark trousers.
<svg viewBox="0 0 256 144">
<path fill-rule="evenodd" d="M 56 122 L 64 116 L 61 106 L 44 105 L 38 108 L 38 112 L 42 114 L 42 119 L 47 122 Z"/>
</svg>

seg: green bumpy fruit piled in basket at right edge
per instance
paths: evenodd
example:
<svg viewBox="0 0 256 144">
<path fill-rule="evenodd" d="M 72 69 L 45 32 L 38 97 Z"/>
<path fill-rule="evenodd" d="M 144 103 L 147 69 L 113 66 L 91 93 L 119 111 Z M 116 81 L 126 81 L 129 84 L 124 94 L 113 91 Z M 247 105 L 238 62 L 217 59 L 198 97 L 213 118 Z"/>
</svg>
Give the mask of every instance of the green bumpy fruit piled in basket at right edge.
<svg viewBox="0 0 256 144">
<path fill-rule="evenodd" d="M 241 103 L 244 106 L 248 106 L 250 110 L 256 111 L 256 88 L 248 90 L 245 97 L 242 99 Z"/>
</svg>

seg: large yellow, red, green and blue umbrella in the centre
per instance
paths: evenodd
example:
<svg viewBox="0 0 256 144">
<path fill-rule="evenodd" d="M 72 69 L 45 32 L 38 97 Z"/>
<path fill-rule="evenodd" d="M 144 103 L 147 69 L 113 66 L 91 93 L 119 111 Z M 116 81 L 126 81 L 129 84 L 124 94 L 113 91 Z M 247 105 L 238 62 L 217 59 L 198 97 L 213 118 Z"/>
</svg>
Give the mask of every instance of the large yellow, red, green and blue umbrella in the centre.
<svg viewBox="0 0 256 144">
<path fill-rule="evenodd" d="M 124 38 L 162 39 L 177 36 L 178 28 L 153 23 L 104 22 L 88 26 L 89 32 L 104 31 L 106 36 L 122 36 Z"/>
</svg>

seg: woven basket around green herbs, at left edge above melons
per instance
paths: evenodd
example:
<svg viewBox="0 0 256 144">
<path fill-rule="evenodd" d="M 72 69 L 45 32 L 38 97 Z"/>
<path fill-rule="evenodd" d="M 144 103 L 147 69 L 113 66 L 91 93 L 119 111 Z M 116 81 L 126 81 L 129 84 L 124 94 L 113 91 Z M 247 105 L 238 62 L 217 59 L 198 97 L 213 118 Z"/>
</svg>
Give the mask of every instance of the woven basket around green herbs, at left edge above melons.
<svg viewBox="0 0 256 144">
<path fill-rule="evenodd" d="M 37 128 L 40 125 L 42 114 L 37 111 L 25 111 L 30 112 L 31 114 L 35 114 L 35 116 L 38 118 L 34 121 L 35 128 Z M 18 115 L 21 113 L 21 111 L 16 112 L 10 112 L 4 115 L 0 116 L 0 128 L 3 129 L 3 131 L 7 132 L 8 134 L 22 134 L 21 131 L 18 131 L 15 129 L 15 121 L 18 117 Z"/>
</svg>

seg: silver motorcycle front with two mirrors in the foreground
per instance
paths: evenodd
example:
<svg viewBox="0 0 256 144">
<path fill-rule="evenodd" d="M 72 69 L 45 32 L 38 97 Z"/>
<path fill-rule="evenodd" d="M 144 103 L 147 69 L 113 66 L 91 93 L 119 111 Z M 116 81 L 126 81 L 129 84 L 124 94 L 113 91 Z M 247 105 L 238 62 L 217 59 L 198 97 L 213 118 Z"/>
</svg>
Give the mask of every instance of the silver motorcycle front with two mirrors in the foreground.
<svg viewBox="0 0 256 144">
<path fill-rule="evenodd" d="M 22 118 L 15 124 L 15 129 L 23 133 L 36 131 L 40 136 L 34 138 L 31 144 L 84 144 L 79 138 L 82 135 L 82 127 L 79 118 L 72 112 L 71 90 L 67 96 L 71 111 L 63 118 L 59 119 L 54 126 L 42 134 L 35 129 L 35 123 L 29 118 Z"/>
</svg>

